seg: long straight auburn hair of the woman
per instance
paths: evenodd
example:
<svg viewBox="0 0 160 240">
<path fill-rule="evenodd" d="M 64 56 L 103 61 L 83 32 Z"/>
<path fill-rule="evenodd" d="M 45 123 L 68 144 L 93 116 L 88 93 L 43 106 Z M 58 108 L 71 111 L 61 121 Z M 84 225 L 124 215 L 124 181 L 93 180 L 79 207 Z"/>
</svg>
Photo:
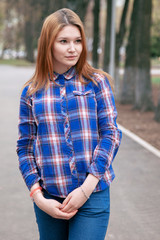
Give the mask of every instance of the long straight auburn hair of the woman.
<svg viewBox="0 0 160 240">
<path fill-rule="evenodd" d="M 34 94 L 43 87 L 47 88 L 49 86 L 50 79 L 55 83 L 53 80 L 53 43 L 59 31 L 67 25 L 74 25 L 78 27 L 82 37 L 82 53 L 77 64 L 75 65 L 80 81 L 85 83 L 82 78 L 83 76 L 97 84 L 93 77 L 94 73 L 106 75 L 110 81 L 111 78 L 109 74 L 102 70 L 93 68 L 87 62 L 85 32 L 83 23 L 81 22 L 79 16 L 70 9 L 62 8 L 49 15 L 43 23 L 41 34 L 38 40 L 38 54 L 35 73 L 33 77 L 25 84 L 25 86 L 30 85 L 28 92 L 29 95 Z"/>
</svg>

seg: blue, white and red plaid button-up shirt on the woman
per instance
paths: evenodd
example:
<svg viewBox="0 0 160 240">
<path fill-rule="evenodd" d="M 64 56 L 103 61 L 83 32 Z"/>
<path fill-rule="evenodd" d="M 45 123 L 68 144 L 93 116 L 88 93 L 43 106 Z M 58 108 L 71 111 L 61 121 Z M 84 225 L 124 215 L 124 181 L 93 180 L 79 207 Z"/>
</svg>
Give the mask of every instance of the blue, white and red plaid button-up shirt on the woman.
<svg viewBox="0 0 160 240">
<path fill-rule="evenodd" d="M 115 177 L 112 161 L 121 141 L 116 107 L 106 77 L 95 74 L 96 86 L 81 83 L 72 67 L 54 73 L 47 90 L 20 100 L 19 167 L 26 185 L 40 185 L 50 194 L 66 197 L 88 173 L 100 181 L 94 191 L 110 185 Z"/>
</svg>

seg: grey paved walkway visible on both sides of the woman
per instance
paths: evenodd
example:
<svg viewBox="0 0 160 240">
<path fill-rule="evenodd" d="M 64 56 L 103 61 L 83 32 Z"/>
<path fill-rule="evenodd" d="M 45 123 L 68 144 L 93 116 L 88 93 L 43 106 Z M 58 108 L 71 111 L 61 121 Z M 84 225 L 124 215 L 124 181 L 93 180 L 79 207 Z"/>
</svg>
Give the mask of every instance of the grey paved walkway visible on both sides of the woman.
<svg viewBox="0 0 160 240">
<path fill-rule="evenodd" d="M 37 227 L 15 152 L 20 89 L 33 69 L 0 66 L 0 239 L 36 240 Z M 114 162 L 107 240 L 160 239 L 160 158 L 123 136 Z M 76 240 L 76 239 L 75 239 Z M 98 240 L 98 239 L 97 239 Z"/>
</svg>

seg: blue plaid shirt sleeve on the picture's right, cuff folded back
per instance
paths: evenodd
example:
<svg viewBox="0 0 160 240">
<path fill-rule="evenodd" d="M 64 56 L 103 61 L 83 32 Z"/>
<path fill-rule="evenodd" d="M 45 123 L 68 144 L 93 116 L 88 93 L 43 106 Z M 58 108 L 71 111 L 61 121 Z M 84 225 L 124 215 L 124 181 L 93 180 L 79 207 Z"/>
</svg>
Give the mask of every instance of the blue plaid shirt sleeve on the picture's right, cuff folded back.
<svg viewBox="0 0 160 240">
<path fill-rule="evenodd" d="M 117 111 L 112 89 L 107 78 L 96 87 L 99 143 L 96 146 L 89 172 L 101 179 L 109 170 L 118 151 L 122 133 L 116 124 Z"/>
</svg>

